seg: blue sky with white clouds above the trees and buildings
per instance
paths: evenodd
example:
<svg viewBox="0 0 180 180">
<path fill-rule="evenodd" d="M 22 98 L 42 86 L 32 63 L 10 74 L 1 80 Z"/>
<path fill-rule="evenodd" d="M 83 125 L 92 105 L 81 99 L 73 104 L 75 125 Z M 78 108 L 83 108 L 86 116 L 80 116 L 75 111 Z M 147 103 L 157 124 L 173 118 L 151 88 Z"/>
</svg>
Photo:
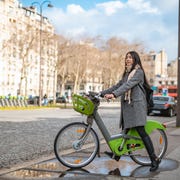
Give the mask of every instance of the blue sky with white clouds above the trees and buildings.
<svg viewBox="0 0 180 180">
<path fill-rule="evenodd" d="M 19 0 L 23 6 L 45 1 Z M 177 58 L 178 0 L 51 0 L 42 13 L 65 37 L 118 37 L 142 42 L 146 51 L 165 50 L 168 62 Z"/>
</svg>

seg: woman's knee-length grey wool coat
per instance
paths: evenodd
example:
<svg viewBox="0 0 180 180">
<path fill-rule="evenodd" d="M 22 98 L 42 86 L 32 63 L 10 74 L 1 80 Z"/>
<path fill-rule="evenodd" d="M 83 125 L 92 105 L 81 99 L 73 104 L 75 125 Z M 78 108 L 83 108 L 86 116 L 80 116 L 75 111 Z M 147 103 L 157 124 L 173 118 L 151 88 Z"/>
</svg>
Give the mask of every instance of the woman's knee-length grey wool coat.
<svg viewBox="0 0 180 180">
<path fill-rule="evenodd" d="M 128 73 L 116 85 L 101 92 L 101 95 L 113 93 L 121 96 L 120 127 L 123 129 L 144 126 L 147 118 L 147 102 L 145 94 L 139 87 L 144 83 L 144 72 L 137 69 L 134 76 L 127 81 Z M 131 89 L 131 102 L 124 100 L 125 92 Z"/>
</svg>

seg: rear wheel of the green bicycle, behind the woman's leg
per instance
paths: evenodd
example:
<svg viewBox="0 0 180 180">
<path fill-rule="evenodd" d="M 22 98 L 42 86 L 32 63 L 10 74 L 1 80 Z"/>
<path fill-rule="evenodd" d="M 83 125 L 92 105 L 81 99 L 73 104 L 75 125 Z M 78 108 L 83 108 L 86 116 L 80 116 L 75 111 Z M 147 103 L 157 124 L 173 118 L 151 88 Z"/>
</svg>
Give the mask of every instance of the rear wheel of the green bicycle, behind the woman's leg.
<svg viewBox="0 0 180 180">
<path fill-rule="evenodd" d="M 168 144 L 166 133 L 162 129 L 155 129 L 149 136 L 152 140 L 155 154 L 158 158 L 162 159 L 166 153 Z M 140 165 L 151 165 L 151 160 L 146 148 L 131 151 L 129 154 L 131 159 L 136 163 Z"/>
</svg>

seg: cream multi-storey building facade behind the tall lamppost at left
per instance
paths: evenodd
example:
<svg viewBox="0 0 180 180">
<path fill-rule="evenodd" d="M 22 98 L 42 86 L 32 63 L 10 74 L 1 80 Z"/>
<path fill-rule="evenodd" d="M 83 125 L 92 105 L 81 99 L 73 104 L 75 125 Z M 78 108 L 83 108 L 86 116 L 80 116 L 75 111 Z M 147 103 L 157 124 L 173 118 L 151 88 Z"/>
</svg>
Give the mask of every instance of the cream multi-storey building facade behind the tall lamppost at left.
<svg viewBox="0 0 180 180">
<path fill-rule="evenodd" d="M 48 19 L 17 0 L 0 0 L 0 29 L 0 95 L 53 96 L 57 42 Z"/>
</svg>

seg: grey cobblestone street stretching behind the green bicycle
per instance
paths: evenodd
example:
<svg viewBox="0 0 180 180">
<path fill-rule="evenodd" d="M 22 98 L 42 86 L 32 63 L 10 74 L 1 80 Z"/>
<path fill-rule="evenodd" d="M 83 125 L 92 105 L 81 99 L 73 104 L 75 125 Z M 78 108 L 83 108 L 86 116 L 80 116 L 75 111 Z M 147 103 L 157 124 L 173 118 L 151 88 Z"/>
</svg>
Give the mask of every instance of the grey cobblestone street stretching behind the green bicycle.
<svg viewBox="0 0 180 180">
<path fill-rule="evenodd" d="M 104 107 L 100 113 L 112 133 L 118 133 L 119 108 Z M 158 117 L 168 121 L 168 118 Z M 157 117 L 151 117 L 157 119 Z M 171 118 L 171 120 L 175 117 Z M 85 116 L 72 109 L 39 109 L 0 111 L 0 168 L 54 155 L 53 143 L 57 132 L 64 125 L 83 121 Z M 96 125 L 94 125 L 97 130 Z M 98 131 L 99 136 L 101 133 Z"/>
</svg>

